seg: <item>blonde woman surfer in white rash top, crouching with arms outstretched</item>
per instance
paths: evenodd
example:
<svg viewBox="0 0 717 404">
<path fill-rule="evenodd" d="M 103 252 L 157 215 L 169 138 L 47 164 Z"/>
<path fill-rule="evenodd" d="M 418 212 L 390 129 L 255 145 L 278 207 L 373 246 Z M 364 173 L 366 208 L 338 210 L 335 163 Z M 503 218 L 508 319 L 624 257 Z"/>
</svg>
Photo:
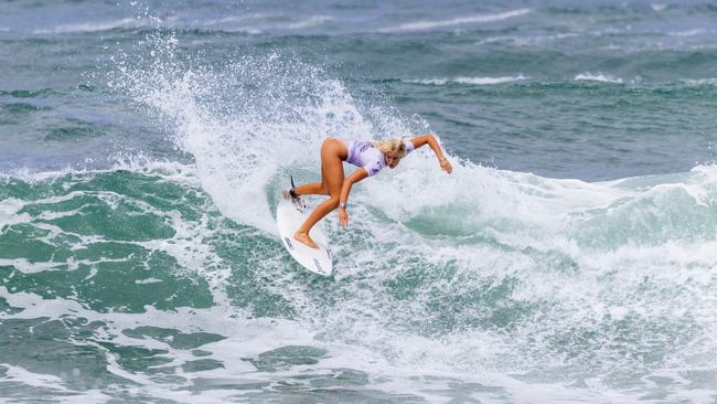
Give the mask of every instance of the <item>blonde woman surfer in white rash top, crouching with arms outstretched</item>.
<svg viewBox="0 0 717 404">
<path fill-rule="evenodd" d="M 394 169 L 409 152 L 428 145 L 440 164 L 441 170 L 451 173 L 453 168 L 443 157 L 443 152 L 431 134 L 416 136 L 410 139 L 390 139 L 385 141 L 362 141 L 341 138 L 328 138 L 321 145 L 321 181 L 310 182 L 286 192 L 286 196 L 298 200 L 300 195 L 329 195 L 307 217 L 301 227 L 293 234 L 297 241 L 318 248 L 317 243 L 309 236 L 309 231 L 331 211 L 339 208 L 339 224 L 349 224 L 346 202 L 351 187 L 367 178 L 377 174 L 388 167 Z M 344 178 L 343 161 L 358 167 L 351 176 Z"/>
</svg>

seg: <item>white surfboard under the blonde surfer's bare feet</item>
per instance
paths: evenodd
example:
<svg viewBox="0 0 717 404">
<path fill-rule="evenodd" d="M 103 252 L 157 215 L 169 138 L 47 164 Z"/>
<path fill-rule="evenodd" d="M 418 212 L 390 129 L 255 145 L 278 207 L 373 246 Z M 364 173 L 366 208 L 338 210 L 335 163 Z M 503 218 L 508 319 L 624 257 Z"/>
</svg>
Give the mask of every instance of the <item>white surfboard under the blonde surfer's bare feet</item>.
<svg viewBox="0 0 717 404">
<path fill-rule="evenodd" d="M 290 200 L 279 198 L 277 226 L 279 227 L 281 243 L 291 254 L 291 257 L 301 266 L 314 274 L 329 276 L 333 270 L 331 252 L 329 252 L 327 236 L 319 226 L 313 226 L 309 233 L 311 238 L 319 245 L 319 248 L 311 248 L 293 238 L 293 233 L 301 226 L 307 216 L 308 214 L 291 203 Z"/>
</svg>

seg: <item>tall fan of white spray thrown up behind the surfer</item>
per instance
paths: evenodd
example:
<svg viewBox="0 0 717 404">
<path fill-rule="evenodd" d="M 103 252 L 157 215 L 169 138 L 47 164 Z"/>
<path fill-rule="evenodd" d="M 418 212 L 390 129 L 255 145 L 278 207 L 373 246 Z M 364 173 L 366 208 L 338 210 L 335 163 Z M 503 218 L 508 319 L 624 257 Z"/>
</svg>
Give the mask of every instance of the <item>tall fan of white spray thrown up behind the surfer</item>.
<svg viewBox="0 0 717 404">
<path fill-rule="evenodd" d="M 266 184 L 279 169 L 286 176 L 297 164 L 318 167 L 327 137 L 410 135 L 400 118 L 356 103 L 339 81 L 298 59 L 237 54 L 197 66 L 180 62 L 178 45 L 171 34 L 151 35 L 142 43 L 150 50 L 140 52 L 149 56 L 115 61 L 110 87 L 160 114 L 158 125 L 193 156 L 204 190 L 242 223 L 274 232 Z"/>
</svg>

